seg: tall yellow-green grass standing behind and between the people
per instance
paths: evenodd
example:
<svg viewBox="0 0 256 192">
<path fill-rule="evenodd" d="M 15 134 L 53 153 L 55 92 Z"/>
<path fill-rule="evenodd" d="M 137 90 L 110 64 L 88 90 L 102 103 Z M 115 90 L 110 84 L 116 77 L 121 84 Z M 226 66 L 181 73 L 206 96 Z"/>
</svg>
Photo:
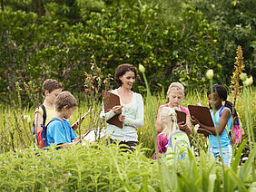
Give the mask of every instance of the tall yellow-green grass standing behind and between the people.
<svg viewBox="0 0 256 192">
<path fill-rule="evenodd" d="M 248 94 L 251 98 L 250 106 L 248 106 L 249 111 L 245 110 L 242 94 L 239 95 L 236 104 L 236 109 L 241 116 L 241 122 L 246 133 L 243 136 L 243 139 L 246 139 L 248 137 L 246 129 L 246 112 L 250 113 L 252 134 L 254 137 L 256 135 L 256 130 L 253 129 L 256 126 L 256 90 L 254 88 L 251 88 L 250 90 L 248 90 Z M 232 98 L 229 97 L 228 100 L 232 101 Z M 143 128 L 139 128 L 137 129 L 137 131 L 139 136 L 139 142 L 142 144 L 143 148 L 149 149 L 146 152 L 146 155 L 149 158 L 153 156 L 154 152 L 153 130 L 155 128 L 154 124 L 152 124 L 152 121 L 154 123 L 156 120 L 156 111 L 159 106 L 167 102 L 168 100 L 165 91 L 153 94 L 153 96 L 150 97 L 150 101 L 148 101 L 148 99 L 144 97 L 144 125 Z M 203 106 L 208 106 L 206 91 L 186 92 L 185 98 L 181 104 L 182 106 L 187 107 L 189 104 L 196 104 L 197 102 L 201 102 Z M 70 119 L 71 121 L 77 120 L 90 107 L 89 101 L 86 96 L 84 96 L 83 100 L 78 101 L 78 103 L 79 105 L 74 110 L 74 115 Z M 30 130 L 32 128 L 35 107 L 25 107 L 22 109 L 21 107 L 19 107 L 19 110 L 17 108 L 17 106 L 11 107 L 4 103 L 0 103 L 0 153 L 14 151 L 15 149 L 33 148 L 33 138 Z M 94 103 L 94 106 L 92 106 L 92 108 L 94 110 L 87 115 L 84 122 L 76 131 L 78 135 L 83 134 L 87 130 L 94 128 L 95 125 L 103 124 L 103 122 L 99 120 L 101 103 Z M 190 139 L 194 148 L 198 150 L 207 149 L 207 139 L 202 134 L 197 134 L 193 131 Z"/>
</svg>

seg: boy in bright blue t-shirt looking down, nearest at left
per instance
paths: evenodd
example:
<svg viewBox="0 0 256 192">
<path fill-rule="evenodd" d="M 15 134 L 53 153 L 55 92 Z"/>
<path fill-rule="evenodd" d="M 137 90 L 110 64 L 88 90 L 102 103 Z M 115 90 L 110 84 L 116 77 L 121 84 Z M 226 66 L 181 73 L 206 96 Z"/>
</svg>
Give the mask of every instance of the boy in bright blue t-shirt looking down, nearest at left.
<svg viewBox="0 0 256 192">
<path fill-rule="evenodd" d="M 55 101 L 54 118 L 46 126 L 48 146 L 60 146 L 59 149 L 69 148 L 76 138 L 69 119 L 74 113 L 77 101 L 69 91 L 61 92 Z"/>
</svg>

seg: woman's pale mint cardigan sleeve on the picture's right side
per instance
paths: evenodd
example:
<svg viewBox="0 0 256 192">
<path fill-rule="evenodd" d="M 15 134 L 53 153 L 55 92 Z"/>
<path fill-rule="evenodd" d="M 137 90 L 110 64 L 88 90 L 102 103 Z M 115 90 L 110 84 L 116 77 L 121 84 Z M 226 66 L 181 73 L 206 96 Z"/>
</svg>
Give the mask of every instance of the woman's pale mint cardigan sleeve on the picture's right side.
<svg viewBox="0 0 256 192">
<path fill-rule="evenodd" d="M 143 105 L 143 96 L 141 94 L 138 95 L 136 104 L 137 104 L 137 111 L 136 111 L 135 120 L 125 117 L 123 124 L 134 127 L 134 128 L 142 128 L 144 124 L 144 105 Z"/>
</svg>

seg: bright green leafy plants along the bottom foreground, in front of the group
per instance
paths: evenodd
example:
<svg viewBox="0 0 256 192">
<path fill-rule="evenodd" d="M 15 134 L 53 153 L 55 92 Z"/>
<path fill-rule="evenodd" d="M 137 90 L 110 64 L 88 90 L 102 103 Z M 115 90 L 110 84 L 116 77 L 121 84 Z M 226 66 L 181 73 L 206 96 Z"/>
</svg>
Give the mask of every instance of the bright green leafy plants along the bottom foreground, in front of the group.
<svg viewBox="0 0 256 192">
<path fill-rule="evenodd" d="M 122 153 L 103 144 L 51 150 L 32 149 L 0 155 L 2 191 L 253 191 L 253 152 L 241 168 L 238 161 L 222 168 L 212 156 L 189 154 L 169 168 L 163 159 L 146 158 L 144 149 Z M 236 159 L 240 158 L 241 153 Z"/>
</svg>

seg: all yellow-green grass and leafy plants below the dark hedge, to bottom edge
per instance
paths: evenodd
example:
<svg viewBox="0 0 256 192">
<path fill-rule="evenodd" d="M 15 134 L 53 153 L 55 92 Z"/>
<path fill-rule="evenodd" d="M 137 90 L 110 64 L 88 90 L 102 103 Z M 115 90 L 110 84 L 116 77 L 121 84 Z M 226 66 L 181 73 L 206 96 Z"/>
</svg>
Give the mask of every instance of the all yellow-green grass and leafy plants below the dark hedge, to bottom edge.
<svg viewBox="0 0 256 192">
<path fill-rule="evenodd" d="M 250 106 L 244 106 L 241 94 L 236 109 L 246 124 L 251 116 L 255 128 L 255 89 L 247 91 Z M 231 98 L 229 98 L 231 100 Z M 73 149 L 41 151 L 33 149 L 30 130 L 34 108 L 10 107 L 0 104 L 0 190 L 1 191 L 253 191 L 256 187 L 255 145 L 248 146 L 248 135 L 240 146 L 234 146 L 231 168 L 222 168 L 206 152 L 206 139 L 192 133 L 189 159 L 167 166 L 165 158 L 153 161 L 153 131 L 156 110 L 166 103 L 164 91 L 144 97 L 145 123 L 138 129 L 140 146 L 134 153 L 122 153 L 117 146 L 105 147 L 104 140 Z M 188 91 L 182 106 L 201 102 L 207 106 L 205 91 Z M 81 117 L 89 102 L 79 101 L 71 120 Z M 95 103 L 77 132 L 84 133 L 98 123 L 101 104 Z M 248 111 L 249 110 L 249 111 Z M 27 116 L 26 116 L 27 115 Z M 29 118 L 30 120 L 29 120 Z M 94 120 L 92 122 L 92 120 Z M 244 129 L 247 132 L 247 128 Z M 27 131 L 29 134 L 25 134 Z M 255 129 L 253 130 L 255 131 Z M 255 134 L 252 136 L 254 137 Z M 254 139 L 255 140 L 255 139 Z M 241 163 L 248 150 L 249 158 Z M 39 152 L 40 156 L 35 156 Z M 198 153 L 197 155 L 195 153 Z"/>
</svg>

